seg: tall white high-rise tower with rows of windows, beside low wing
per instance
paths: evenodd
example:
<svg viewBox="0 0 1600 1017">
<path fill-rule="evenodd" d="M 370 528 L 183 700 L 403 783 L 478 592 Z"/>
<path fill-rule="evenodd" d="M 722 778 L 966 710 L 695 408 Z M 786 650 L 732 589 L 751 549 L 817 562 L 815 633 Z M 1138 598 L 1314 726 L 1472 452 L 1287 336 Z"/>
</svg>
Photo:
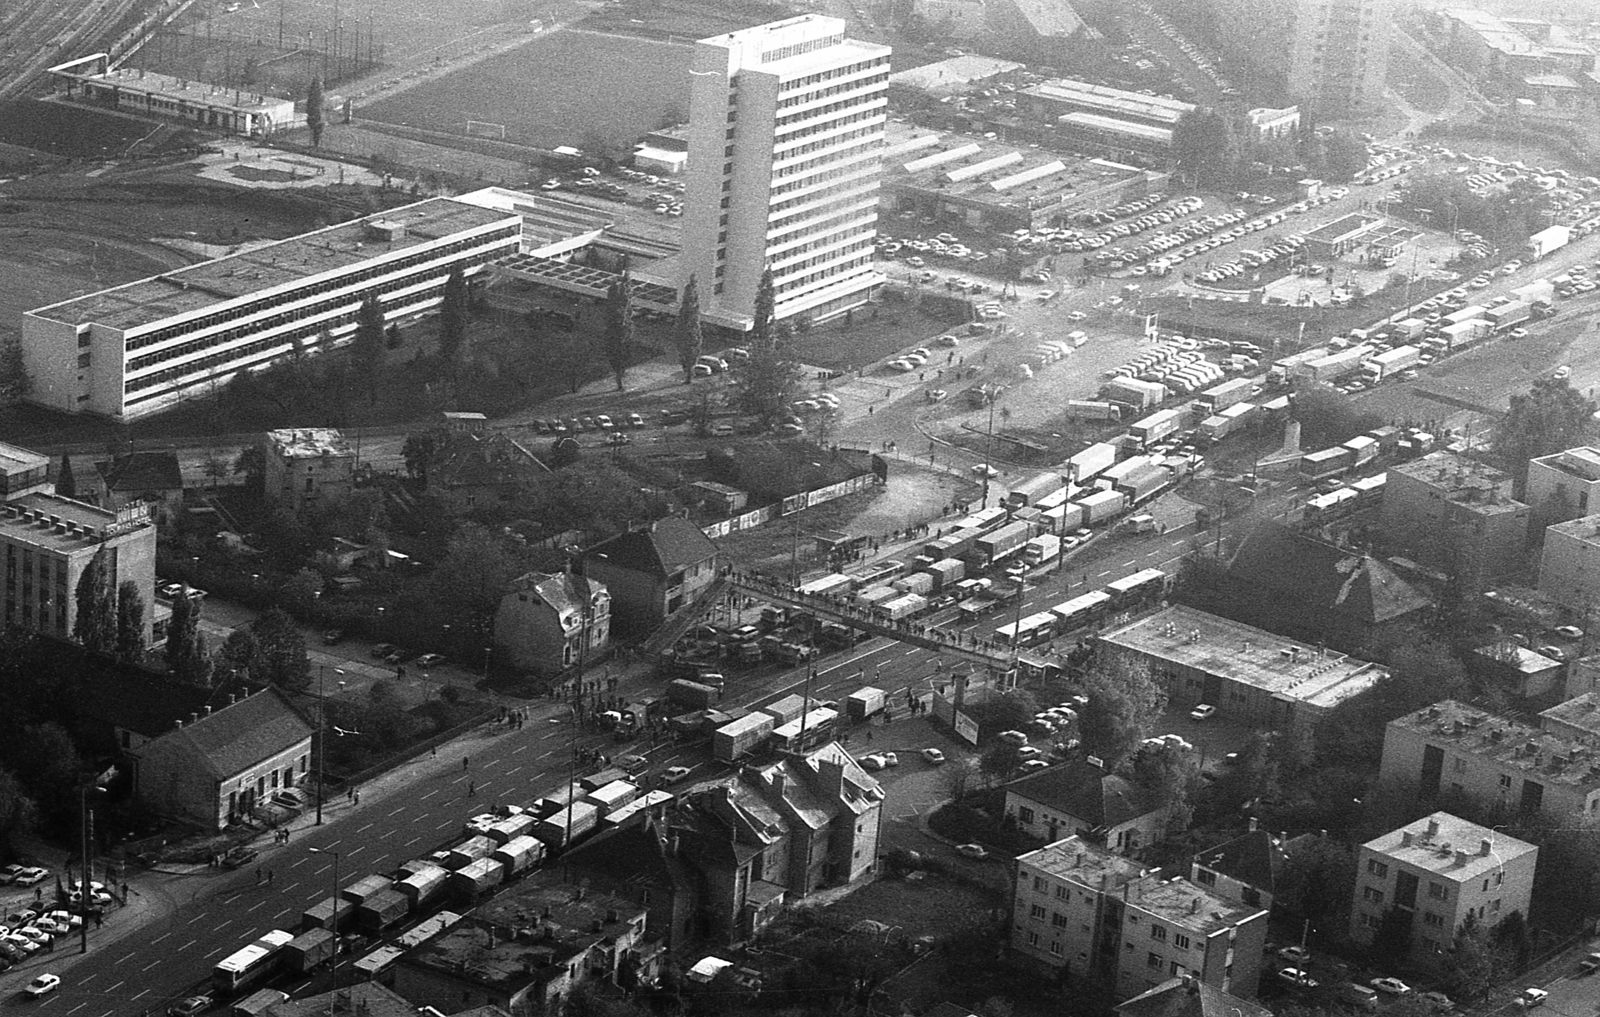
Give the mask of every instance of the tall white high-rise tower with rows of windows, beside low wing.
<svg viewBox="0 0 1600 1017">
<path fill-rule="evenodd" d="M 702 38 L 690 80 L 680 288 L 707 321 L 747 329 L 771 269 L 774 317 L 864 304 L 872 267 L 890 48 L 802 14 Z"/>
</svg>

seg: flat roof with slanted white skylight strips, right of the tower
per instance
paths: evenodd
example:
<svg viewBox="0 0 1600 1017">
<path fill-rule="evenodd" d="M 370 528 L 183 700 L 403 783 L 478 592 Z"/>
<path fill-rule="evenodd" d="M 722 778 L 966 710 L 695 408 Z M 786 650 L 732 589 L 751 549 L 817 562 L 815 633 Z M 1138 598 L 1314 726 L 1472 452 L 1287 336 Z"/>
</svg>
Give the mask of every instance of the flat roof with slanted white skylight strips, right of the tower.
<svg viewBox="0 0 1600 1017">
<path fill-rule="evenodd" d="M 1072 158 L 971 134 L 933 133 L 894 122 L 888 125 L 885 146 L 885 187 L 997 208 L 1054 205 L 1110 182 L 1144 176 L 1136 166 Z"/>
</svg>

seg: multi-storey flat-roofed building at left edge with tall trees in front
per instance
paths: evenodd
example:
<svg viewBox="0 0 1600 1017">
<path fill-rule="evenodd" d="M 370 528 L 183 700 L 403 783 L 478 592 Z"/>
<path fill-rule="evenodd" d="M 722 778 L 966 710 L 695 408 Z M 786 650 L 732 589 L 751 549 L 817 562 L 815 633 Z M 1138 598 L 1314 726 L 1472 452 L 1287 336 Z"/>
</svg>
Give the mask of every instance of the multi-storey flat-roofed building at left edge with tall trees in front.
<svg viewBox="0 0 1600 1017">
<path fill-rule="evenodd" d="M 155 523 L 150 507 L 133 502 L 96 508 L 58 494 L 24 494 L 0 507 L 0 561 L 5 568 L 3 624 L 58 640 L 72 636 L 83 569 L 106 548 L 110 588 L 133 582 L 144 598 L 144 644 L 155 620 Z"/>
</svg>

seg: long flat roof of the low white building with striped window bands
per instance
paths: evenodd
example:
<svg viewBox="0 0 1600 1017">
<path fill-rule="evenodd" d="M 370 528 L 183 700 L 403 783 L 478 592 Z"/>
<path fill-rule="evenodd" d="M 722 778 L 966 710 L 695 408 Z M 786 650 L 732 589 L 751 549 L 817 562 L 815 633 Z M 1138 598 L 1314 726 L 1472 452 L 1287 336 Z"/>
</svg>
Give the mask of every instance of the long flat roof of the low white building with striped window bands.
<svg viewBox="0 0 1600 1017">
<path fill-rule="evenodd" d="M 29 313 L 66 325 L 96 323 L 133 329 L 258 293 L 336 272 L 381 254 L 403 253 L 451 233 L 506 222 L 507 213 L 454 198 L 424 198 L 339 225 L 290 237 L 238 254 L 101 289 Z M 395 240 L 374 240 L 373 230 L 403 225 Z"/>
</svg>

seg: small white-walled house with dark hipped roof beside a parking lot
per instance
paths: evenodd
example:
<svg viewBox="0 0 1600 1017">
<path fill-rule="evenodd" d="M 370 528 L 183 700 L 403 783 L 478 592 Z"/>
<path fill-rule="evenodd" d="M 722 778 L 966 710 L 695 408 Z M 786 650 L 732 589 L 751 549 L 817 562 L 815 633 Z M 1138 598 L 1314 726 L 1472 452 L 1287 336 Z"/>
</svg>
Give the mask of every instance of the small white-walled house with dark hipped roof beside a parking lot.
<svg viewBox="0 0 1600 1017">
<path fill-rule="evenodd" d="M 1050 766 L 1002 787 L 1005 814 L 1029 836 L 1080 836 L 1125 855 L 1166 836 L 1171 803 L 1094 763 Z"/>
</svg>

